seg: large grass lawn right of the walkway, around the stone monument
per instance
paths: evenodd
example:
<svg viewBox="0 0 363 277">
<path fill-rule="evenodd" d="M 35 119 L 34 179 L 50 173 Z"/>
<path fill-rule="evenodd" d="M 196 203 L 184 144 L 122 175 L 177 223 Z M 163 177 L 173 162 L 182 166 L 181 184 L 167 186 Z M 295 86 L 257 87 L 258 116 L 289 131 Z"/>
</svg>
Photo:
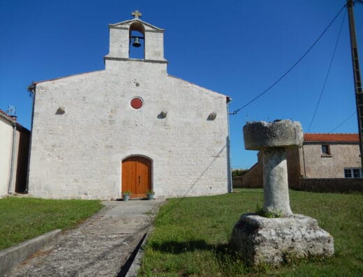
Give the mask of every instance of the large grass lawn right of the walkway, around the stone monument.
<svg viewBox="0 0 363 277">
<path fill-rule="evenodd" d="M 334 237 L 334 257 L 246 267 L 228 249 L 239 216 L 262 206 L 262 189 L 168 200 L 145 244 L 141 276 L 363 276 L 363 195 L 290 190 L 295 214 L 318 220 Z"/>
</svg>

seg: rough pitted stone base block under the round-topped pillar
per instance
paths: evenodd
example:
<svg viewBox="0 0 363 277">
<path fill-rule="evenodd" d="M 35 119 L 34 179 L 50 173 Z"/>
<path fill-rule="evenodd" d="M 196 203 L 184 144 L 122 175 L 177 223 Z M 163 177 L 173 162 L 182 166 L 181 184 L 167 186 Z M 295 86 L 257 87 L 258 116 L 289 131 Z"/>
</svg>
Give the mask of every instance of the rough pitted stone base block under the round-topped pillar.
<svg viewBox="0 0 363 277">
<path fill-rule="evenodd" d="M 251 265 L 279 264 L 286 257 L 332 256 L 333 237 L 309 216 L 264 218 L 242 214 L 232 231 L 231 245 Z"/>
</svg>

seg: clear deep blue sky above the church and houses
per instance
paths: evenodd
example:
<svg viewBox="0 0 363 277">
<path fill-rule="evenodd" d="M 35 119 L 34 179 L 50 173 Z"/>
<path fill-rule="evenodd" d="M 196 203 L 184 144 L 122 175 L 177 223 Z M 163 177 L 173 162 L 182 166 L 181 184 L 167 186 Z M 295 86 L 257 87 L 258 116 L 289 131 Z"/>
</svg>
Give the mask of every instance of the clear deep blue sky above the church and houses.
<svg viewBox="0 0 363 277">
<path fill-rule="evenodd" d="M 0 1 L 0 109 L 31 122 L 27 86 L 104 68 L 108 24 L 141 19 L 165 29 L 168 73 L 232 98 L 230 112 L 267 89 L 292 66 L 341 10 L 345 0 Z M 343 14 L 306 58 L 272 90 L 230 116 L 232 167 L 248 168 L 246 121 L 292 119 L 306 132 L 323 87 Z M 361 69 L 363 5 L 355 6 Z M 355 112 L 348 15 L 310 133 L 327 133 Z M 350 117 L 335 133 L 357 133 Z"/>
</svg>

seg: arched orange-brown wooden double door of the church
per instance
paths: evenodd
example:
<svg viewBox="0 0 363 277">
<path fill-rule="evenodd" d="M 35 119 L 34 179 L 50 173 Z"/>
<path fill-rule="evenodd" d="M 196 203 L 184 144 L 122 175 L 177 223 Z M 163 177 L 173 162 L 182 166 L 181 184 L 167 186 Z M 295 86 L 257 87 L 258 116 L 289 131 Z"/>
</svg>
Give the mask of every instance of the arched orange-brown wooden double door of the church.
<svg viewBox="0 0 363 277">
<path fill-rule="evenodd" d="M 132 156 L 122 161 L 121 191 L 131 190 L 130 197 L 145 197 L 151 190 L 151 160 Z"/>
</svg>

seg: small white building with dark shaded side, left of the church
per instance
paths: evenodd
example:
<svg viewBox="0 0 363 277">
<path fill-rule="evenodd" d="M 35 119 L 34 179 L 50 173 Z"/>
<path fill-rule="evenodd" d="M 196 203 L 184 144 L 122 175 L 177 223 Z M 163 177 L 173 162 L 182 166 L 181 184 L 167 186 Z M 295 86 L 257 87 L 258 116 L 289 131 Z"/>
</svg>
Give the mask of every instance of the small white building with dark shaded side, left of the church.
<svg viewBox="0 0 363 277">
<path fill-rule="evenodd" d="M 15 116 L 0 110 L 0 197 L 27 188 L 29 135 Z"/>
</svg>

